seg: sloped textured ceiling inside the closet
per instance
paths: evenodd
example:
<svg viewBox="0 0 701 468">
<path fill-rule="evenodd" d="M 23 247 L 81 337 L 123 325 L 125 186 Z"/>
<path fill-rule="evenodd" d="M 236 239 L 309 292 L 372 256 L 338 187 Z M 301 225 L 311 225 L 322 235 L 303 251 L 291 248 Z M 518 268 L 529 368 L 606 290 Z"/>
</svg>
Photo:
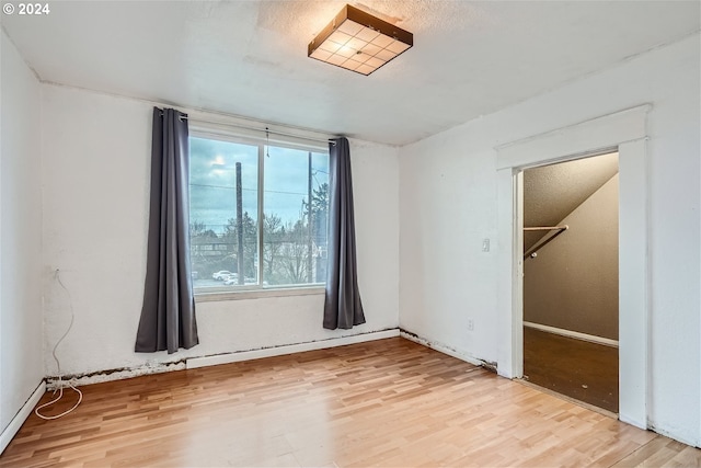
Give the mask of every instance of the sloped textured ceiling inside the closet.
<svg viewBox="0 0 701 468">
<path fill-rule="evenodd" d="M 524 171 L 524 227 L 559 226 L 618 173 L 618 152 Z M 524 232 L 524 251 L 549 231 Z"/>
</svg>

